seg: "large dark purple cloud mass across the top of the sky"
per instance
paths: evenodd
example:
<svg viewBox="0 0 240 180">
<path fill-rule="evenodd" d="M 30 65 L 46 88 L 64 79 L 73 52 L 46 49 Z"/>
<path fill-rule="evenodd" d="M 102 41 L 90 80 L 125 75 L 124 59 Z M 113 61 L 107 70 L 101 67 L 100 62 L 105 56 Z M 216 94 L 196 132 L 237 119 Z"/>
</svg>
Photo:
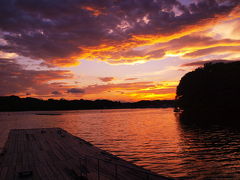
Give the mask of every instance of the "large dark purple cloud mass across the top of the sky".
<svg viewBox="0 0 240 180">
<path fill-rule="evenodd" d="M 177 0 L 1 0 L 0 30 L 8 44 L 0 49 L 50 64 L 72 64 L 89 47 L 120 48 L 118 44 L 126 42 L 132 47 L 143 43 L 134 40 L 136 36 L 183 32 L 227 15 L 238 4 L 233 0 L 196 1 L 188 6 Z"/>
</svg>

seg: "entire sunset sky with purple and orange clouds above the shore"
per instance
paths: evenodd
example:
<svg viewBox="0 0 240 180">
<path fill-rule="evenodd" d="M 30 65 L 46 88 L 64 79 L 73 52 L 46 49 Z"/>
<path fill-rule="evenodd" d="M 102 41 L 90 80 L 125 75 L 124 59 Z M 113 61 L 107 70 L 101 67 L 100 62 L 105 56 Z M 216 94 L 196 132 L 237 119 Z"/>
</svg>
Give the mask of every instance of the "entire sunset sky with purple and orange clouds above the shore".
<svg viewBox="0 0 240 180">
<path fill-rule="evenodd" d="M 239 0 L 1 0 L 0 96 L 169 100 L 240 59 Z"/>
</svg>

